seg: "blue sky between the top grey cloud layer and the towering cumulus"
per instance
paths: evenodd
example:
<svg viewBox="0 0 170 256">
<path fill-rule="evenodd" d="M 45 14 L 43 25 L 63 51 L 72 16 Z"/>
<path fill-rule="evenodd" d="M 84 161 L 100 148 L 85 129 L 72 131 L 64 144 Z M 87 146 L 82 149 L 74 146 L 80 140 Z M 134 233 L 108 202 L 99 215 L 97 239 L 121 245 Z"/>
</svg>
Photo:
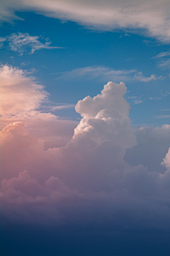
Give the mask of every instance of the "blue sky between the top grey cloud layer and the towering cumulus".
<svg viewBox="0 0 170 256">
<path fill-rule="evenodd" d="M 16 14 L 22 20 L 3 23 L 2 38 L 12 33 L 28 33 L 38 36 L 42 43 L 47 38 L 50 46 L 63 48 L 42 48 L 31 54 L 31 47 L 27 45 L 21 55 L 4 42 L 1 63 L 32 70 L 38 82 L 50 93 L 52 105 L 76 105 L 86 95 L 94 97 L 109 80 L 123 81 L 128 87 L 125 97 L 130 102 L 132 124 L 169 124 L 169 64 L 166 64 L 169 56 L 155 58 L 159 53 L 169 51 L 169 43 L 146 37 L 143 31 L 98 31 L 33 12 Z M 87 67 L 89 71 L 84 70 Z M 126 73 L 118 77 L 109 75 L 111 70 Z M 142 73 L 145 78 L 151 75 L 155 78 L 140 81 L 137 73 Z M 70 108 L 56 110 L 55 114 L 64 119 L 80 118 L 74 107 Z"/>
</svg>

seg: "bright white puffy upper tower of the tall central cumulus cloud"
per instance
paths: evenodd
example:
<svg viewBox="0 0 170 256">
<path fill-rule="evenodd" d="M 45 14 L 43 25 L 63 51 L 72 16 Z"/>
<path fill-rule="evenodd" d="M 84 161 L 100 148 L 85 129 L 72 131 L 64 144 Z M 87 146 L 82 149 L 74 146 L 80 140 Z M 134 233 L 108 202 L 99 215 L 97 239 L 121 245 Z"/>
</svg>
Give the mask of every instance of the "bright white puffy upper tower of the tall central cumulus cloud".
<svg viewBox="0 0 170 256">
<path fill-rule="evenodd" d="M 135 137 L 129 119 L 130 106 L 123 98 L 126 89 L 124 82 L 108 82 L 101 95 L 79 100 L 75 110 L 83 118 L 74 129 L 73 142 L 81 136 L 89 139 L 90 135 L 90 140 L 96 145 L 111 142 L 114 145 L 121 144 L 121 149 L 134 146 Z"/>
</svg>

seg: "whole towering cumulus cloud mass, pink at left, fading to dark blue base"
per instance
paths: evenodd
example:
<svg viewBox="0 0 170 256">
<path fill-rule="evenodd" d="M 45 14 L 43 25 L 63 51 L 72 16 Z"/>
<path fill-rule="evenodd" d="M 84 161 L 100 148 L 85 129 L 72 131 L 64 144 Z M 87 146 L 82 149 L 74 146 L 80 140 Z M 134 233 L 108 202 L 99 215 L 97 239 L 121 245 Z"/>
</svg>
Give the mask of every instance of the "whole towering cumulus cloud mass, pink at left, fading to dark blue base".
<svg viewBox="0 0 170 256">
<path fill-rule="evenodd" d="M 75 109 L 82 119 L 65 146 L 45 150 L 23 122 L 4 127 L 4 219 L 74 226 L 95 220 L 97 227 L 114 230 L 169 228 L 169 153 L 164 174 L 123 160 L 126 149 L 137 144 L 125 92 L 123 82 L 108 82 L 101 94 L 79 100 Z"/>
</svg>

